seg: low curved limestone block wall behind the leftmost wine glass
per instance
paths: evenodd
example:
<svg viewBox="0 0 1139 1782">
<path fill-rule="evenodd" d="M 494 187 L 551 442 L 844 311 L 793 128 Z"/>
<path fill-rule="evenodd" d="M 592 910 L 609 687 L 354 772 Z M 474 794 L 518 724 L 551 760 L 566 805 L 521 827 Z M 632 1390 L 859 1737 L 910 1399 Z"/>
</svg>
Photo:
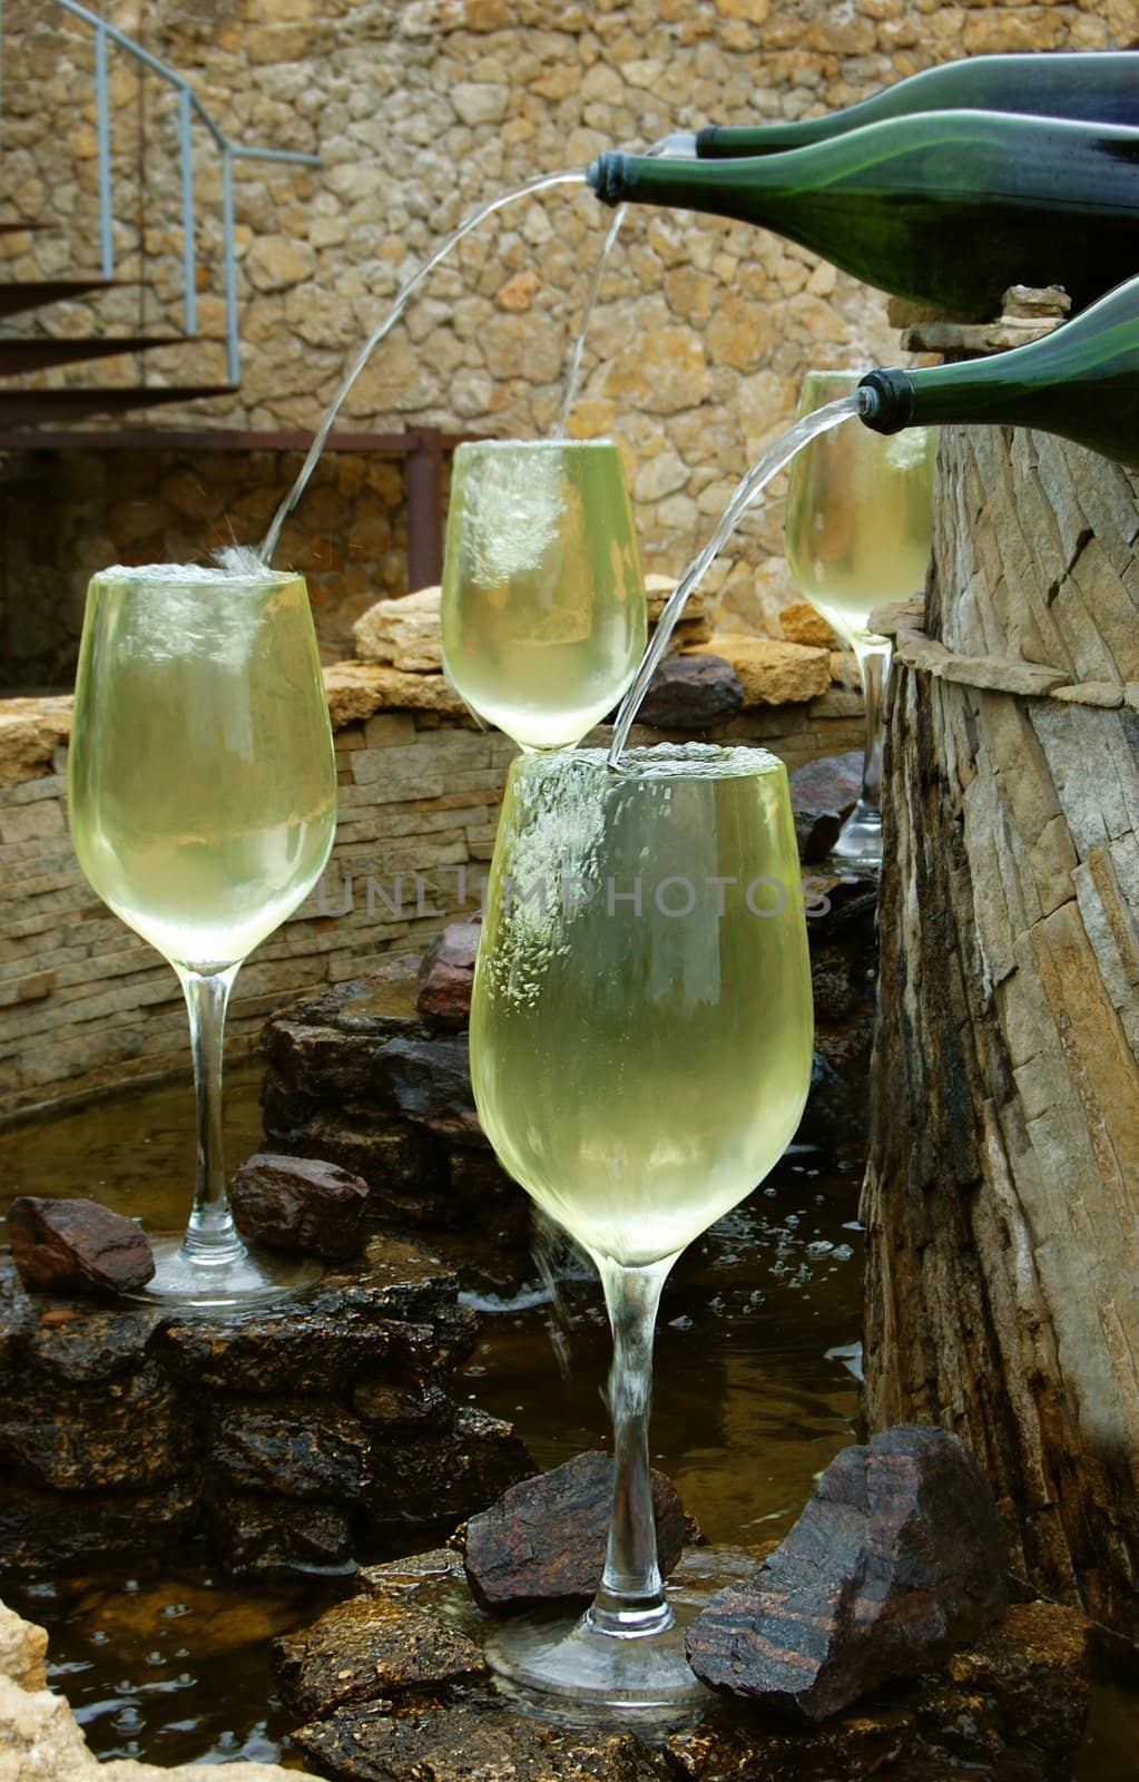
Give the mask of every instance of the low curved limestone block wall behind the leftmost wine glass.
<svg viewBox="0 0 1139 1782">
<path fill-rule="evenodd" d="M 378 709 L 389 670 L 328 675 L 340 822 L 323 884 L 250 955 L 228 1023 L 250 1050 L 289 996 L 417 952 L 479 907 L 513 743 L 438 709 Z M 339 677 L 339 679 L 337 679 Z M 440 677 L 405 677 L 438 681 Z M 0 1119 L 189 1067 L 169 966 L 91 891 L 66 822 L 70 700 L 0 702 Z M 832 688 L 799 706 L 745 709 L 724 734 L 790 768 L 861 743 L 859 699 Z M 638 727 L 635 741 L 663 732 Z"/>
</svg>

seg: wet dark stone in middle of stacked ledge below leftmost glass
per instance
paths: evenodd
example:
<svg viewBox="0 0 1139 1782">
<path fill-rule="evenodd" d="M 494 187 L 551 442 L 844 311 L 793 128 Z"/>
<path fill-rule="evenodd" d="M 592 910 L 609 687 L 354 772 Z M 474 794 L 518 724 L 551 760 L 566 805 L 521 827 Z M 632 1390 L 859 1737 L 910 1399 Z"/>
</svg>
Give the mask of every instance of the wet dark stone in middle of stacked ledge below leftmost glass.
<svg viewBox="0 0 1139 1782">
<path fill-rule="evenodd" d="M 351 1504 L 364 1493 L 369 1449 L 364 1424 L 339 1406 L 237 1401 L 216 1417 L 209 1459 L 239 1492 Z"/>
</svg>

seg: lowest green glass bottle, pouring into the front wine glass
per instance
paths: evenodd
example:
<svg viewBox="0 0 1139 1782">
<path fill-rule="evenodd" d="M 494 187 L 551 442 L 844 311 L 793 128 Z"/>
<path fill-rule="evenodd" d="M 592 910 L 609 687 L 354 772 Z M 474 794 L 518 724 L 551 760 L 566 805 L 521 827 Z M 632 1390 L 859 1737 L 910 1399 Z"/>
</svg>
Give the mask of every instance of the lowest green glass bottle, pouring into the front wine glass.
<svg viewBox="0 0 1139 1782">
<path fill-rule="evenodd" d="M 1139 469 L 1139 278 L 1027 346 L 959 365 L 872 371 L 857 388 L 875 433 L 1037 428 Z"/>
</svg>

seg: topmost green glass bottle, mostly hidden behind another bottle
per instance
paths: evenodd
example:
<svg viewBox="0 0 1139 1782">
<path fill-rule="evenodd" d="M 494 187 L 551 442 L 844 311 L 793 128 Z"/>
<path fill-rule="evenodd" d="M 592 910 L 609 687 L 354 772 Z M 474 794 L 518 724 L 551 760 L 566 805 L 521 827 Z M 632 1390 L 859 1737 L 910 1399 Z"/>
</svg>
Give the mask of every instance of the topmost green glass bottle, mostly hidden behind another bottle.
<svg viewBox="0 0 1139 1782">
<path fill-rule="evenodd" d="M 1118 123 L 1139 128 L 1139 55 L 973 55 L 963 62 L 923 68 L 875 93 L 873 98 L 824 118 L 766 123 L 754 128 L 709 125 L 697 132 L 701 159 L 734 160 L 740 155 L 775 155 L 786 148 L 829 143 L 886 118 L 913 118 L 930 110 L 1030 112 L 1034 118 L 1069 118 L 1077 123 Z"/>
</svg>

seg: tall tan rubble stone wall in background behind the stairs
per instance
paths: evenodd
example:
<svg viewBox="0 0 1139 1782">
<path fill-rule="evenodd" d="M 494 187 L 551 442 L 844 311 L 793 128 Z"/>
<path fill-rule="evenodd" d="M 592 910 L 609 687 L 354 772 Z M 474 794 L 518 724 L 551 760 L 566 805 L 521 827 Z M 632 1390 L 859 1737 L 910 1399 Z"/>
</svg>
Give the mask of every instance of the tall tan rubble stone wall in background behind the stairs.
<svg viewBox="0 0 1139 1782">
<path fill-rule="evenodd" d="M 349 355 L 440 233 L 537 173 L 583 168 L 604 148 L 645 146 L 709 119 L 847 105 L 963 53 L 1103 50 L 1139 36 L 1130 0 L 96 4 L 191 78 L 234 135 L 323 155 L 321 169 L 239 168 L 242 385 L 237 397 L 159 413 L 159 424 L 180 426 L 314 428 Z M 118 53 L 111 68 L 119 273 L 152 283 L 100 298 L 98 314 L 119 326 L 176 326 L 173 102 Z M 5 9 L 5 192 L 16 216 L 59 225 L 0 237 L 16 276 L 96 266 L 91 69 L 89 34 L 53 0 Z M 219 337 L 219 166 L 205 137 L 196 173 L 200 331 Z M 608 221 L 590 194 L 570 189 L 496 216 L 415 298 L 349 397 L 348 424 L 547 431 Z M 71 305 L 50 326 L 82 333 L 93 315 L 91 305 Z M 738 476 L 788 422 L 804 367 L 895 355 L 879 294 L 806 249 L 718 219 L 633 212 L 604 280 L 572 426 L 620 438 L 647 567 L 679 572 Z M 221 346 L 164 351 L 148 365 L 159 381 L 178 371 L 217 378 Z M 135 374 L 130 360 L 98 371 L 100 381 Z M 36 501 L 46 519 L 50 490 Z M 308 506 L 298 519 L 321 533 Z M 237 503 L 234 522 L 239 538 L 257 536 L 260 520 Z M 175 529 L 184 529 L 180 515 Z M 91 531 L 114 547 L 109 554 L 119 549 L 105 519 Z M 73 567 L 71 577 L 82 586 L 84 570 Z M 747 522 L 713 586 L 752 624 L 783 604 L 779 501 Z M 9 590 L 16 601 L 18 579 Z M 342 593 L 355 597 L 348 574 Z"/>
</svg>

